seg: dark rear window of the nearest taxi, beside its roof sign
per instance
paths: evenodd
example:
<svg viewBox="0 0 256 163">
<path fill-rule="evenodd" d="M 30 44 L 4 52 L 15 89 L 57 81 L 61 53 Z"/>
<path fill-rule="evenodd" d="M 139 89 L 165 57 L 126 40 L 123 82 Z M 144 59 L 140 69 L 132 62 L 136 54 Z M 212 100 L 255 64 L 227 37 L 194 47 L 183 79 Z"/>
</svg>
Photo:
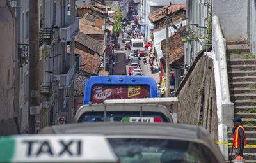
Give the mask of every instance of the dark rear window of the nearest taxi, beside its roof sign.
<svg viewBox="0 0 256 163">
<path fill-rule="evenodd" d="M 218 162 L 204 145 L 172 139 L 108 138 L 120 163 Z"/>
</svg>

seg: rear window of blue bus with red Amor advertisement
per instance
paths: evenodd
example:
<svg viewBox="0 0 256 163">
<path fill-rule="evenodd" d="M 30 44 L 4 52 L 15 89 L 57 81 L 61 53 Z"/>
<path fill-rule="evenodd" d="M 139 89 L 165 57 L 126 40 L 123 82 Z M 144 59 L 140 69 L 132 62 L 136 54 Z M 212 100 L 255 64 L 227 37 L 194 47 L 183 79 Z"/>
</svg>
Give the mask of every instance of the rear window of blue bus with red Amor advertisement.
<svg viewBox="0 0 256 163">
<path fill-rule="evenodd" d="M 92 104 L 103 103 L 105 99 L 149 98 L 148 85 L 95 85 L 92 89 Z"/>
</svg>

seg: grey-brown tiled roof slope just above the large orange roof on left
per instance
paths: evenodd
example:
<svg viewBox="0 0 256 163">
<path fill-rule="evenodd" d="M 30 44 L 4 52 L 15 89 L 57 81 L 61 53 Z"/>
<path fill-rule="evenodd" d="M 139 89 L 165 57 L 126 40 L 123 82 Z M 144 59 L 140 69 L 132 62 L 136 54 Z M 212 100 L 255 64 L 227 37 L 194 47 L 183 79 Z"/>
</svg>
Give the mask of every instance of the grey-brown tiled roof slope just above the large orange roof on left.
<svg viewBox="0 0 256 163">
<path fill-rule="evenodd" d="M 99 41 L 96 41 L 95 39 L 91 38 L 86 34 L 83 34 L 82 32 L 78 32 L 78 34 L 75 36 L 75 41 L 76 43 L 80 43 L 81 45 L 86 46 L 90 50 L 93 50 L 94 52 L 102 56 L 106 49 L 106 47 L 102 45 L 102 43 L 99 43 Z"/>
</svg>

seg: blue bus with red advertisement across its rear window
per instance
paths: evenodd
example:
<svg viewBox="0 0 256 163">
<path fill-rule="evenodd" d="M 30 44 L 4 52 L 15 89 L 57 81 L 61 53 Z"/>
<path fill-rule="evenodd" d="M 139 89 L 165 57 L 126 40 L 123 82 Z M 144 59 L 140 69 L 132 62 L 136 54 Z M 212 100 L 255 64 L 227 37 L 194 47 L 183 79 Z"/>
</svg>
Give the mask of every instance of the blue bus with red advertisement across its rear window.
<svg viewBox="0 0 256 163">
<path fill-rule="evenodd" d="M 157 97 L 156 81 L 150 76 L 91 76 L 84 88 L 83 104 L 100 104 L 105 99 Z"/>
</svg>

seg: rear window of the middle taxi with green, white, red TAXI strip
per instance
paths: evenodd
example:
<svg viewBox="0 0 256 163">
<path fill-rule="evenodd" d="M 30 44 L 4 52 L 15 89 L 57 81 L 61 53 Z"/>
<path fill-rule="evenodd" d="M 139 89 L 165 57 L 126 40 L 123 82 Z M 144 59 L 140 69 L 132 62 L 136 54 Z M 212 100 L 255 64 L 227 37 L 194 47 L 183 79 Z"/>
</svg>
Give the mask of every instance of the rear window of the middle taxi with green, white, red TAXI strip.
<svg viewBox="0 0 256 163">
<path fill-rule="evenodd" d="M 104 112 L 86 112 L 81 115 L 78 122 L 100 122 L 104 121 Z M 163 113 L 140 111 L 107 111 L 106 122 L 168 122 Z"/>
</svg>

